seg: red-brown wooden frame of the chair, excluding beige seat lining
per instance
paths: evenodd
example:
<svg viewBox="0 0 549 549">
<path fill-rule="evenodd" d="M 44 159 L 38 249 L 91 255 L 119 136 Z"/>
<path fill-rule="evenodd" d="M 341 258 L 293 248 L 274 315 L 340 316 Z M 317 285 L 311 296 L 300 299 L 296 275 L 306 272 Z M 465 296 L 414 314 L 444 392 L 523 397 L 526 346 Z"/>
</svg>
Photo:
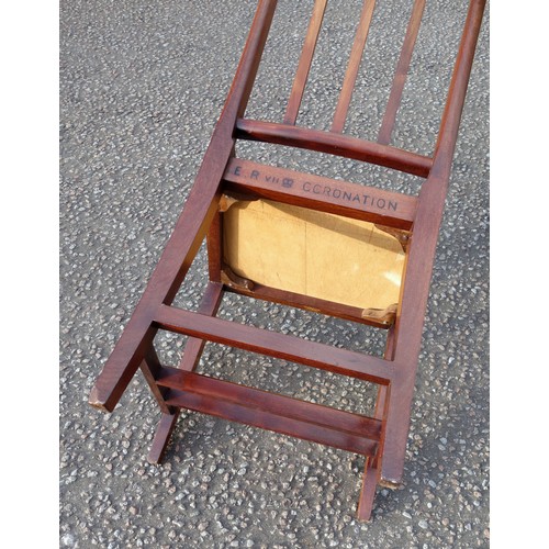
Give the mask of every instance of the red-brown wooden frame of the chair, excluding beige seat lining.
<svg viewBox="0 0 549 549">
<path fill-rule="evenodd" d="M 299 108 L 306 86 L 326 0 L 316 0 L 302 56 L 281 123 L 245 117 L 261 54 L 276 9 L 276 0 L 260 0 L 236 76 L 211 143 L 198 171 L 184 209 L 160 260 L 96 381 L 89 402 L 112 412 L 138 368 L 158 402 L 161 418 L 149 453 L 160 462 L 179 411 L 189 408 L 235 422 L 334 446 L 367 457 L 358 517 L 370 517 L 376 486 L 396 486 L 402 481 L 411 405 L 419 355 L 429 282 L 442 219 L 448 179 L 458 136 L 484 0 L 471 0 L 453 67 L 436 147 L 432 157 L 390 145 L 402 99 L 412 52 L 418 34 L 425 0 L 415 0 L 396 66 L 378 142 L 341 132 L 368 37 L 374 0 L 366 0 L 352 44 L 341 92 L 330 131 L 298 126 Z M 253 139 L 301 147 L 371 163 L 424 178 L 417 197 L 390 192 L 352 182 L 264 166 L 235 157 L 237 139 Z M 291 188 L 273 186 L 253 171 L 267 170 L 282 180 L 306 181 Z M 333 192 L 338 189 L 339 192 Z M 349 202 L 339 197 L 359 194 L 376 200 Z M 369 221 L 406 232 L 406 261 L 394 323 L 365 317 L 358 307 L 300 295 L 261 284 L 248 284 L 232 276 L 223 262 L 222 195 L 262 198 L 311 210 Z M 386 208 L 391 204 L 391 208 Z M 171 303 L 202 242 L 208 240 L 210 281 L 197 312 Z M 224 321 L 216 317 L 223 293 L 303 307 L 332 316 L 388 329 L 383 358 L 330 347 Z M 160 363 L 154 347 L 158 330 L 189 336 L 179 368 Z M 314 368 L 367 380 L 379 385 L 373 417 L 341 412 L 279 394 L 259 391 L 197 373 L 205 341 L 282 358 Z"/>
</svg>

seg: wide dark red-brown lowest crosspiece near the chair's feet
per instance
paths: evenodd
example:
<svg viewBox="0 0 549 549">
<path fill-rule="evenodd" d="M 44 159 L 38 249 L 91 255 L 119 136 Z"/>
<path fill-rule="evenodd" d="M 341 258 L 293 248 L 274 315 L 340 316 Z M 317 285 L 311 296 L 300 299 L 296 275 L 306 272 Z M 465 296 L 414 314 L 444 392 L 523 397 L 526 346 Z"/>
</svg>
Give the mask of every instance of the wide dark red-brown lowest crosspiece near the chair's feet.
<svg viewBox="0 0 549 549">
<path fill-rule="evenodd" d="M 206 413 L 343 450 L 373 456 L 381 422 L 321 404 L 163 368 L 158 384 L 170 388 L 167 404 Z"/>
</svg>

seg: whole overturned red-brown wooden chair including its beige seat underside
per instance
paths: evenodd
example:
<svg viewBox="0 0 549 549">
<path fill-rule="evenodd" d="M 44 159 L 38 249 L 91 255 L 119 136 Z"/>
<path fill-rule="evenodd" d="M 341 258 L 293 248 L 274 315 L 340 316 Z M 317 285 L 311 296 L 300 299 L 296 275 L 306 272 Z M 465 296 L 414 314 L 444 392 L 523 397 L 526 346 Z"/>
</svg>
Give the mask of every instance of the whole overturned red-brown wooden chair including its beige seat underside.
<svg viewBox="0 0 549 549">
<path fill-rule="evenodd" d="M 296 119 L 326 0 L 314 3 L 283 121 L 245 117 L 276 8 L 274 0 L 259 1 L 183 212 L 89 400 L 112 412 L 141 368 L 161 411 L 152 462 L 163 459 L 180 408 L 366 456 L 360 519 L 370 517 L 376 486 L 394 488 L 403 477 L 435 248 L 484 10 L 483 0 L 471 0 L 436 147 L 432 156 L 423 156 L 393 147 L 390 141 L 425 0 L 415 0 L 411 10 L 377 142 L 343 133 L 373 4 L 365 1 L 332 128 L 318 131 L 296 125 Z M 235 157 L 238 139 L 352 158 L 424 182 L 417 195 L 410 195 L 262 165 Z M 204 238 L 210 280 L 202 302 L 197 312 L 171 306 Z M 384 356 L 217 318 L 226 291 L 388 330 Z M 158 330 L 189 336 L 179 368 L 160 363 L 154 347 Z M 376 383 L 373 417 L 202 376 L 195 366 L 205 341 Z"/>
</svg>

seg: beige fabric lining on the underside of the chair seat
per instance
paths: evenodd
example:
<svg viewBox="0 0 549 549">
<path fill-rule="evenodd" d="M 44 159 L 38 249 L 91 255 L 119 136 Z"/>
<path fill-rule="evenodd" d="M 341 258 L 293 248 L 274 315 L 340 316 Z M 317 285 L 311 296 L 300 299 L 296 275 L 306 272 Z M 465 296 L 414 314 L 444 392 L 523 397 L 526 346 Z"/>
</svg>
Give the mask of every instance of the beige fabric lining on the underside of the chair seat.
<svg viewBox="0 0 549 549">
<path fill-rule="evenodd" d="M 405 254 L 372 223 L 268 200 L 223 214 L 225 264 L 253 282 L 361 309 L 399 302 Z"/>
</svg>

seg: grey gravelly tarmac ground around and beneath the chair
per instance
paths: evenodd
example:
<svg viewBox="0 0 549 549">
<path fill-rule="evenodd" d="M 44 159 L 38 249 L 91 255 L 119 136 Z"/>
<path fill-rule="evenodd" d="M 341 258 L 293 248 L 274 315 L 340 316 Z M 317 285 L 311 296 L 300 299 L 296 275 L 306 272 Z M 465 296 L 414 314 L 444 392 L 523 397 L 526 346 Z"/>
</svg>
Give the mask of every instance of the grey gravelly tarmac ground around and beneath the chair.
<svg viewBox="0 0 549 549">
<path fill-rule="evenodd" d="M 302 2 L 309 7 L 311 2 Z M 466 2 L 430 2 L 394 143 L 429 153 Z M 436 5 L 433 5 L 436 4 Z M 374 137 L 407 1 L 380 2 L 347 131 Z M 184 203 L 221 112 L 254 1 L 60 3 L 60 546 L 488 547 L 489 25 L 483 23 L 434 269 L 404 485 L 355 518 L 363 459 L 186 413 L 166 463 L 146 461 L 158 410 L 137 374 L 113 414 L 87 404 Z M 327 127 L 358 1 L 329 3 L 300 123 Z M 249 114 L 280 120 L 306 25 L 280 1 Z M 302 10 L 305 12 L 306 10 Z M 395 190 L 412 177 L 246 144 L 238 153 Z M 176 302 L 195 306 L 202 249 Z M 356 350 L 374 330 L 229 296 L 223 317 Z M 246 320 L 245 320 L 246 318 Z M 184 338 L 157 339 L 176 363 Z M 200 371 L 368 413 L 372 388 L 216 345 Z"/>
</svg>

